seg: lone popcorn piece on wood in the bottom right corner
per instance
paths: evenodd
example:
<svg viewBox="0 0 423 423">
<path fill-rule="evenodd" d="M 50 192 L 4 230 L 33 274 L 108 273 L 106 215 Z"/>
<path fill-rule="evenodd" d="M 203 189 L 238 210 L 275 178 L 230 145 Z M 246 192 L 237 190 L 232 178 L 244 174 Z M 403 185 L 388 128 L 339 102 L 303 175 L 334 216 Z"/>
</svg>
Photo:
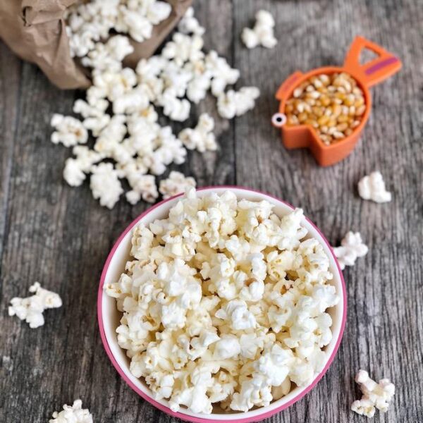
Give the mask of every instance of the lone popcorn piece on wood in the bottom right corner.
<svg viewBox="0 0 423 423">
<path fill-rule="evenodd" d="M 395 394 L 395 386 L 389 379 L 381 379 L 379 384 L 376 384 L 367 372 L 359 370 L 355 381 L 360 385 L 363 395 L 361 400 L 355 400 L 351 404 L 351 410 L 366 417 L 373 417 L 376 408 L 381 412 L 388 411 L 389 403 Z"/>
</svg>

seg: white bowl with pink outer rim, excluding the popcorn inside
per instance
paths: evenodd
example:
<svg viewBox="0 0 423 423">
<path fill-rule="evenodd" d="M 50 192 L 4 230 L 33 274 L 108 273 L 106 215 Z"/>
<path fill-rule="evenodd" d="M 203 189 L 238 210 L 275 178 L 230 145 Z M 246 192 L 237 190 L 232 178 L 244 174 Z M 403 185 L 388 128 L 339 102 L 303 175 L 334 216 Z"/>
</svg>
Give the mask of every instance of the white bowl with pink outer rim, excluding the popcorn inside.
<svg viewBox="0 0 423 423">
<path fill-rule="evenodd" d="M 209 192 L 217 192 L 219 194 L 225 192 L 226 190 L 231 190 L 235 193 L 238 199 L 247 199 L 253 201 L 262 201 L 266 200 L 275 205 L 274 212 L 278 216 L 283 216 L 291 212 L 294 207 L 290 204 L 278 200 L 276 197 L 271 195 L 264 194 L 263 192 L 258 192 L 255 190 L 250 190 L 248 188 L 240 188 L 233 186 L 219 186 L 219 187 L 210 187 L 210 188 L 200 188 L 197 190 L 197 195 L 204 196 Z M 330 270 L 333 274 L 333 280 L 331 284 L 335 286 L 336 293 L 340 297 L 338 305 L 332 307 L 328 310 L 329 314 L 332 317 L 332 333 L 333 337 L 329 345 L 326 345 L 324 350 L 326 351 L 326 363 L 324 369 L 314 377 L 311 384 L 302 387 L 296 387 L 287 396 L 283 396 L 278 400 L 274 400 L 268 407 L 259 407 L 247 412 L 213 412 L 210 415 L 198 414 L 190 412 L 188 409 L 183 407 L 180 408 L 179 412 L 173 412 L 169 406 L 167 400 L 155 400 L 153 398 L 153 393 L 149 389 L 148 385 L 142 379 L 137 379 L 129 370 L 129 358 L 123 350 L 118 345 L 118 340 L 116 336 L 116 328 L 119 325 L 119 320 L 121 319 L 121 313 L 116 309 L 116 300 L 109 297 L 104 293 L 103 286 L 104 283 L 111 283 L 118 281 L 119 276 L 125 269 L 125 263 L 130 259 L 130 247 L 131 247 L 131 238 L 132 238 L 132 229 L 137 223 L 150 223 L 155 219 L 165 219 L 168 216 L 169 209 L 173 207 L 176 202 L 180 199 L 181 195 L 172 197 L 168 200 L 164 200 L 156 204 L 154 207 L 151 207 L 146 212 L 142 213 L 140 216 L 135 219 L 128 228 L 123 231 L 121 236 L 116 241 L 116 244 L 112 248 L 109 257 L 106 259 L 104 264 L 104 269 L 102 272 L 99 292 L 97 297 L 97 315 L 99 319 L 99 329 L 102 336 L 102 341 L 104 349 L 106 350 L 107 355 L 109 356 L 112 364 L 122 376 L 123 380 L 133 389 L 138 395 L 147 400 L 149 403 L 154 405 L 154 407 L 159 408 L 159 410 L 166 412 L 168 415 L 173 417 L 178 417 L 188 422 L 195 423 L 210 423 L 210 422 L 232 422 L 232 423 L 248 423 L 248 422 L 257 422 L 259 420 L 265 419 L 274 415 L 276 412 L 285 410 L 290 405 L 296 403 L 300 398 L 305 396 L 306 393 L 312 390 L 316 386 L 317 382 L 324 376 L 326 371 L 329 369 L 329 366 L 333 362 L 333 359 L 338 351 L 338 347 L 341 343 L 341 338 L 343 336 L 343 331 L 345 328 L 345 320 L 347 314 L 347 298 L 345 291 L 345 283 L 343 280 L 343 275 L 341 269 L 338 265 L 335 255 L 331 246 L 329 245 L 324 235 L 319 231 L 319 229 L 314 226 L 314 223 L 307 218 L 304 218 L 302 225 L 307 228 L 309 235 L 319 240 L 321 245 L 324 247 L 324 251 L 329 257 Z"/>
</svg>

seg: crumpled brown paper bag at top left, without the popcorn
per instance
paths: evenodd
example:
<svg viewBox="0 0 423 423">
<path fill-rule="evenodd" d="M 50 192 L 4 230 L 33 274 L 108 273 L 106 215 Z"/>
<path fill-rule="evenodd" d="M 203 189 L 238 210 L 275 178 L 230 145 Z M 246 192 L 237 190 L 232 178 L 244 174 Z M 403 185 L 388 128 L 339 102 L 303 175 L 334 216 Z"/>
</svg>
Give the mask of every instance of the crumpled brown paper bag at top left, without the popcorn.
<svg viewBox="0 0 423 423">
<path fill-rule="evenodd" d="M 125 58 L 127 66 L 151 56 L 178 23 L 192 0 L 166 0 L 171 16 L 154 27 L 152 38 L 133 42 L 135 51 Z M 60 88 L 90 86 L 89 72 L 69 54 L 63 12 L 75 0 L 0 0 L 0 38 L 22 59 L 36 63 Z"/>
</svg>

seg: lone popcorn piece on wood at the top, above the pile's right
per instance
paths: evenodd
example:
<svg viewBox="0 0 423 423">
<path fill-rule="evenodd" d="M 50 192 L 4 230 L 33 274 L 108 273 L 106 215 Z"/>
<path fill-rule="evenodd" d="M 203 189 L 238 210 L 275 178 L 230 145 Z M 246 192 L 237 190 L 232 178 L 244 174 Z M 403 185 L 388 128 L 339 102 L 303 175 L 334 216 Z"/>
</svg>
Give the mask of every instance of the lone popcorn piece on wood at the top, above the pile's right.
<svg viewBox="0 0 423 423">
<path fill-rule="evenodd" d="M 258 11 L 254 28 L 244 28 L 242 39 L 248 49 L 261 45 L 266 49 L 273 49 L 278 40 L 274 36 L 275 20 L 271 13 Z"/>
</svg>

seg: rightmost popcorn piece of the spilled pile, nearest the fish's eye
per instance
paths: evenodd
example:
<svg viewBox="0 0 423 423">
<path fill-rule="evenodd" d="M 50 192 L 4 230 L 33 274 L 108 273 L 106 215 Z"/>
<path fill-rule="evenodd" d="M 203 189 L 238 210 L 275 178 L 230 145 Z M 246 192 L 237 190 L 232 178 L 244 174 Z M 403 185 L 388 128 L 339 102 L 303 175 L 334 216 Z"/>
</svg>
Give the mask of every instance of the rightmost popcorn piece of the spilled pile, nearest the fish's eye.
<svg viewBox="0 0 423 423">
<path fill-rule="evenodd" d="M 238 92 L 229 90 L 219 95 L 217 110 L 222 118 L 232 119 L 235 116 L 241 116 L 254 109 L 255 100 L 259 95 L 260 91 L 256 87 L 243 87 Z"/>
</svg>

